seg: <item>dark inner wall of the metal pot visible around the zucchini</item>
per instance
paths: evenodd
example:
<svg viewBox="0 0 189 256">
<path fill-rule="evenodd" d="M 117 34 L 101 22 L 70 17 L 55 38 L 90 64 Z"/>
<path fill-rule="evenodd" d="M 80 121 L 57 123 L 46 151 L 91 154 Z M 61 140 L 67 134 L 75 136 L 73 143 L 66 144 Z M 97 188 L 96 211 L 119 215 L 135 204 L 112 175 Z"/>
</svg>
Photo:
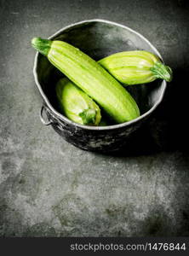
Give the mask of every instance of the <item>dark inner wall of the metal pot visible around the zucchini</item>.
<svg viewBox="0 0 189 256">
<path fill-rule="evenodd" d="M 89 21 L 66 28 L 59 32 L 53 39 L 66 41 L 69 44 L 83 50 L 95 61 L 125 50 L 145 49 L 157 54 L 152 45 L 139 34 L 130 31 L 123 26 L 117 26 L 103 21 Z M 55 84 L 64 77 L 48 59 L 39 54 L 37 59 L 37 79 L 48 97 L 52 107 L 61 113 L 55 96 Z M 156 80 L 150 84 L 138 84 L 127 86 L 130 94 L 134 96 L 140 113 L 150 110 L 162 96 L 165 84 L 162 80 Z M 113 125 L 111 122 L 110 125 Z"/>
</svg>

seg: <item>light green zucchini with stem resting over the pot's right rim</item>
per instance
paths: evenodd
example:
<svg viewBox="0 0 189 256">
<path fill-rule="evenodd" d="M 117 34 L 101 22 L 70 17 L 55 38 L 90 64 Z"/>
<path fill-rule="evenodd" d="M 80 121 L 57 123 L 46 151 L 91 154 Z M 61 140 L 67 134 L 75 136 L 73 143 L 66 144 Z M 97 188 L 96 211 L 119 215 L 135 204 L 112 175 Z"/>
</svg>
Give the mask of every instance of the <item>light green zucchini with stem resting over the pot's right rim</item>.
<svg viewBox="0 0 189 256">
<path fill-rule="evenodd" d="M 155 79 L 170 82 L 172 70 L 157 55 L 146 50 L 123 51 L 99 61 L 100 65 L 123 84 L 146 84 Z"/>
</svg>

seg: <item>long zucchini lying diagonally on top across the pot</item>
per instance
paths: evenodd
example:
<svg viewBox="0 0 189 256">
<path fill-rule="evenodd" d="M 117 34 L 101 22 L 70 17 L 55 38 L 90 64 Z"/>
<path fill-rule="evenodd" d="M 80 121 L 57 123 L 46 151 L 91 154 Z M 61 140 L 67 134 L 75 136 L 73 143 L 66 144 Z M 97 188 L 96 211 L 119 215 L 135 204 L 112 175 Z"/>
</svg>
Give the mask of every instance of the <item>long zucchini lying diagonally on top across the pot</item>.
<svg viewBox="0 0 189 256">
<path fill-rule="evenodd" d="M 96 61 L 71 44 L 33 38 L 32 46 L 91 96 L 117 123 L 135 119 L 140 110 L 127 90 Z"/>
</svg>

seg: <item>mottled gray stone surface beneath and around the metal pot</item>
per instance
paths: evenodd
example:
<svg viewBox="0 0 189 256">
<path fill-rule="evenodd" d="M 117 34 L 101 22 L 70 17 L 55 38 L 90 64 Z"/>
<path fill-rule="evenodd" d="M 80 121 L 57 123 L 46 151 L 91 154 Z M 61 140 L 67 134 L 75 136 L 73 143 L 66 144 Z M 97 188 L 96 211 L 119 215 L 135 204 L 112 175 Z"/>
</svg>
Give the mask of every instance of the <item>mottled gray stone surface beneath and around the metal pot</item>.
<svg viewBox="0 0 189 256">
<path fill-rule="evenodd" d="M 186 1 L 0 1 L 0 236 L 189 236 Z M 120 22 L 174 68 L 164 102 L 119 154 L 82 151 L 39 120 L 30 41 Z"/>
</svg>

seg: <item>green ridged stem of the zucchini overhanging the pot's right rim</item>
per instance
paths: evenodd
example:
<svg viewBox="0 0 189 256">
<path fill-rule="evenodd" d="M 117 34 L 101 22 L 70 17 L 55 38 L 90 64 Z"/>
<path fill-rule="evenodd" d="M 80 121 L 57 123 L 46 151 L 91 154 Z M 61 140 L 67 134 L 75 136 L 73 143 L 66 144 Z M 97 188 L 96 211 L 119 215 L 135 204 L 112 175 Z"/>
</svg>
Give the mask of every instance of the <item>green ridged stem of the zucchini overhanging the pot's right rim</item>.
<svg viewBox="0 0 189 256">
<path fill-rule="evenodd" d="M 173 78 L 173 72 L 171 68 L 159 61 L 157 61 L 150 70 L 152 71 L 153 75 L 158 79 L 164 79 L 165 81 L 170 82 Z"/>
</svg>

